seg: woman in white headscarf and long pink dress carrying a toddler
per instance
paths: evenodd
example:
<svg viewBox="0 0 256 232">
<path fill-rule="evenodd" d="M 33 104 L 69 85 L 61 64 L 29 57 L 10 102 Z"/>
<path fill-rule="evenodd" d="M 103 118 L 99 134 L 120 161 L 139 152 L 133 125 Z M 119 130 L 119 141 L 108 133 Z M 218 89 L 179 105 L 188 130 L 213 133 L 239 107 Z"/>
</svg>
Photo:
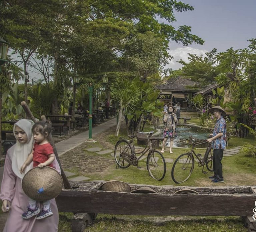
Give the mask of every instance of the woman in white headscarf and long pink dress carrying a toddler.
<svg viewBox="0 0 256 232">
<path fill-rule="evenodd" d="M 55 199 L 51 200 L 52 217 L 44 220 L 36 220 L 35 217 L 30 219 L 21 217 L 29 203 L 28 196 L 23 192 L 21 182 L 24 174 L 32 168 L 33 164 L 27 166 L 23 173 L 20 173 L 19 170 L 33 148 L 32 126 L 32 121 L 21 119 L 13 127 L 17 141 L 7 152 L 0 192 L 0 199 L 3 201 L 2 211 L 9 212 L 3 232 L 58 231 L 59 214 Z M 60 172 L 56 159 L 54 164 L 57 171 Z"/>
</svg>

